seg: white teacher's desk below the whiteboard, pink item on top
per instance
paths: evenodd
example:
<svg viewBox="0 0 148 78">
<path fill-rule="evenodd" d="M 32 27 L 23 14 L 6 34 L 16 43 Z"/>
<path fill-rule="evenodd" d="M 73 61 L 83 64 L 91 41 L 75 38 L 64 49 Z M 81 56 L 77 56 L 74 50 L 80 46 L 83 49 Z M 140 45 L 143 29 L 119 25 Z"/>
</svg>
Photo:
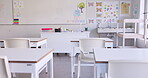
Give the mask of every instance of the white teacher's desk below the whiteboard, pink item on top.
<svg viewBox="0 0 148 78">
<path fill-rule="evenodd" d="M 73 39 L 89 38 L 90 32 L 41 32 L 42 38 L 47 38 L 48 48 L 54 48 L 54 53 L 69 53 L 73 54 Z"/>
</svg>

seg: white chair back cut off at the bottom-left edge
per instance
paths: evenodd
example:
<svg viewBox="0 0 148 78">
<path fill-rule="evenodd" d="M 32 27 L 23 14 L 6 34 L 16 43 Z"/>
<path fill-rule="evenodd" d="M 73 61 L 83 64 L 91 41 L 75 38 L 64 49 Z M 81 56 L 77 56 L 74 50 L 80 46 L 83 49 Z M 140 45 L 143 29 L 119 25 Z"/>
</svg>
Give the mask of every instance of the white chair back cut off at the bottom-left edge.
<svg viewBox="0 0 148 78">
<path fill-rule="evenodd" d="M 8 59 L 6 56 L 0 56 L 0 78 L 11 78 Z"/>
</svg>

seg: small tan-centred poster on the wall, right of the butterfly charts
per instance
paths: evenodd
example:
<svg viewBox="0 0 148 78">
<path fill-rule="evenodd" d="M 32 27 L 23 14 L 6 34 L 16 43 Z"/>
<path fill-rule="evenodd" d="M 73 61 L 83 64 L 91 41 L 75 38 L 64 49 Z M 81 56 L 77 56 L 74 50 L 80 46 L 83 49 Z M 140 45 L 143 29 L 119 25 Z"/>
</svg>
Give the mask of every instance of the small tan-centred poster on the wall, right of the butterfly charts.
<svg viewBox="0 0 148 78">
<path fill-rule="evenodd" d="M 121 1 L 120 2 L 120 14 L 121 16 L 129 16 L 130 15 L 130 1 Z"/>
</svg>

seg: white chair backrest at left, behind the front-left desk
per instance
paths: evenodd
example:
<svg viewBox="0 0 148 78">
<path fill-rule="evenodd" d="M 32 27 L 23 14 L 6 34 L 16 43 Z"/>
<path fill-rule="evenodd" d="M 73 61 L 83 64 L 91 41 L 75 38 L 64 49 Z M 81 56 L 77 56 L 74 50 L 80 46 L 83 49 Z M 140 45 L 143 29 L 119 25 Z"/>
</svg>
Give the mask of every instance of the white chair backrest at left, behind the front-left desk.
<svg viewBox="0 0 148 78">
<path fill-rule="evenodd" d="M 5 48 L 30 48 L 30 40 L 28 38 L 10 38 L 4 40 Z"/>
</svg>

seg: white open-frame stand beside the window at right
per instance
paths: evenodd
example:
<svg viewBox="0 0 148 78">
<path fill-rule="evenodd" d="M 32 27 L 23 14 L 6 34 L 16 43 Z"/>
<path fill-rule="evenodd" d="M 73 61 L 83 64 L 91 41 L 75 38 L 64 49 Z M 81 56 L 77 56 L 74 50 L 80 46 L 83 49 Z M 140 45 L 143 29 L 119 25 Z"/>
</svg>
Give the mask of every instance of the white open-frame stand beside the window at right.
<svg viewBox="0 0 148 78">
<path fill-rule="evenodd" d="M 133 23 L 134 25 L 134 33 L 127 33 L 125 32 L 126 24 Z M 144 34 L 139 34 L 137 32 L 137 25 L 139 23 L 144 23 Z M 118 26 L 117 26 L 118 29 Z M 123 38 L 122 40 L 122 47 L 125 47 L 125 39 L 134 39 L 134 47 L 136 47 L 136 38 L 143 38 L 146 45 L 146 29 L 147 29 L 147 19 L 124 19 L 123 21 L 123 33 L 117 31 L 117 46 L 118 46 L 118 37 Z"/>
</svg>

